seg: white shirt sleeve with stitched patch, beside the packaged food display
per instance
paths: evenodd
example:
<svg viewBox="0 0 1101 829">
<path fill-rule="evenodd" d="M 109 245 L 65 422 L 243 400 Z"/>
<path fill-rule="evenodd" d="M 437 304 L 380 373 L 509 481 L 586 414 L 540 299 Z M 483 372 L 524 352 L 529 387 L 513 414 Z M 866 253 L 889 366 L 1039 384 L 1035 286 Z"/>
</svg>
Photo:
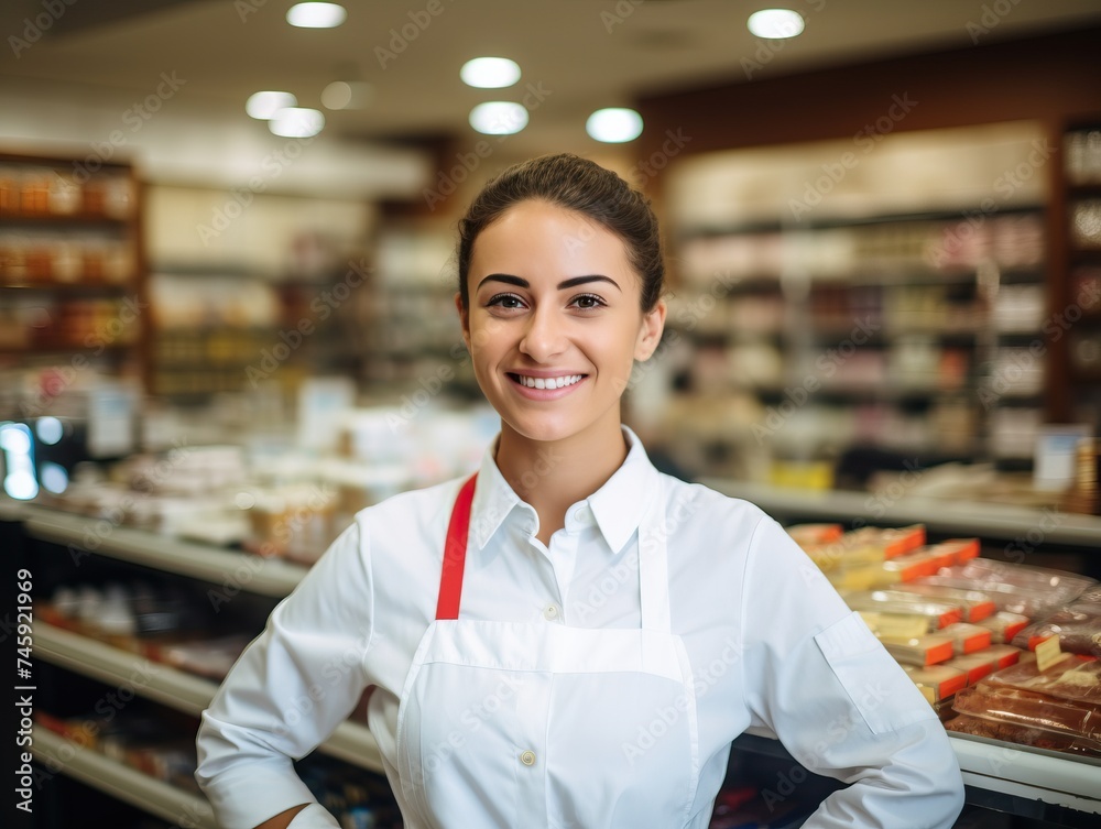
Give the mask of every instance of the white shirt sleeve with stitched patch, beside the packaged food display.
<svg viewBox="0 0 1101 829">
<path fill-rule="evenodd" d="M 850 784 L 804 829 L 952 826 L 963 783 L 939 719 L 771 519 L 750 543 L 742 599 L 753 726 L 806 768 Z"/>
</svg>

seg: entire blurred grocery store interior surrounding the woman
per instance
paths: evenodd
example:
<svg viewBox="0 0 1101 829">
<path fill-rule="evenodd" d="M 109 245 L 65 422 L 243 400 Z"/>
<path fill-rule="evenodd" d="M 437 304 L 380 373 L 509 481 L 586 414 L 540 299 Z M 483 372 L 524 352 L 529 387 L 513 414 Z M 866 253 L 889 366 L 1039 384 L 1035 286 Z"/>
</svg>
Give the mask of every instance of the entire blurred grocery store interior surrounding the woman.
<svg viewBox="0 0 1101 829">
<path fill-rule="evenodd" d="M 0 9 L 10 814 L 216 826 L 194 734 L 233 661 L 357 511 L 500 427 L 457 220 L 573 152 L 662 222 L 624 395 L 654 463 L 760 505 L 862 612 L 949 731 L 957 826 L 1097 826 L 1101 1 L 292 7 Z M 301 774 L 341 826 L 401 826 L 366 723 Z M 836 785 L 746 737 L 711 827 Z"/>
</svg>

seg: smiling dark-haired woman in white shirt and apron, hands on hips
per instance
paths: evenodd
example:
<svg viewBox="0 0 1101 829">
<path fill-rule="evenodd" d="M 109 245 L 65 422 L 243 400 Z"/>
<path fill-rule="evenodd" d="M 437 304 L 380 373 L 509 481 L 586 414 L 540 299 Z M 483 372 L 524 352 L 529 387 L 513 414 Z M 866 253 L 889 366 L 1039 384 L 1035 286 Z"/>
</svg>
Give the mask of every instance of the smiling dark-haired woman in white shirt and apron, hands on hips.
<svg viewBox="0 0 1101 829">
<path fill-rule="evenodd" d="M 359 513 L 272 613 L 203 717 L 221 823 L 336 827 L 291 759 L 373 687 L 410 829 L 699 829 L 748 728 L 852 784 L 807 827 L 950 826 L 948 739 L 859 615 L 775 522 L 658 473 L 621 425 L 666 314 L 644 197 L 543 156 L 459 234 L 500 436 L 475 477 Z"/>
</svg>

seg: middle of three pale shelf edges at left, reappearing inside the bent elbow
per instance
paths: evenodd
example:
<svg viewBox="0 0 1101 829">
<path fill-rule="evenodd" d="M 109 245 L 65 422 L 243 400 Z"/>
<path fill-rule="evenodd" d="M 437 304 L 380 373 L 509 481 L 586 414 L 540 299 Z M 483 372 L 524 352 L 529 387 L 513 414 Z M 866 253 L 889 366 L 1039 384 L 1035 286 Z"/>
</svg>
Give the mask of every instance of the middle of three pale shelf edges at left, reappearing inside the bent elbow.
<svg viewBox="0 0 1101 829">
<path fill-rule="evenodd" d="M 35 656 L 58 667 L 89 676 L 109 685 L 127 686 L 154 702 L 197 717 L 214 698 L 218 684 L 151 663 L 122 651 L 45 622 L 34 625 Z M 134 677 L 141 677 L 141 681 Z M 382 754 L 374 737 L 364 727 L 345 721 L 318 751 L 369 771 L 384 774 Z"/>
</svg>

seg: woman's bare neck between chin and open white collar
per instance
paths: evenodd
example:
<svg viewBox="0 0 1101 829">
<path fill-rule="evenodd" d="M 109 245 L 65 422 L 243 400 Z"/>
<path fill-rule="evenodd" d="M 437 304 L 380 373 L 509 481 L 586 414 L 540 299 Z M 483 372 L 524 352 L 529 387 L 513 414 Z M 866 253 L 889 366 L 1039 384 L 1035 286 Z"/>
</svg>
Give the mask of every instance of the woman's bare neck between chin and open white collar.
<svg viewBox="0 0 1101 829">
<path fill-rule="evenodd" d="M 546 545 L 566 524 L 566 510 L 614 475 L 628 455 L 618 419 L 562 440 L 533 440 L 501 425 L 497 466 L 501 475 L 539 516 L 537 537 Z"/>
</svg>

